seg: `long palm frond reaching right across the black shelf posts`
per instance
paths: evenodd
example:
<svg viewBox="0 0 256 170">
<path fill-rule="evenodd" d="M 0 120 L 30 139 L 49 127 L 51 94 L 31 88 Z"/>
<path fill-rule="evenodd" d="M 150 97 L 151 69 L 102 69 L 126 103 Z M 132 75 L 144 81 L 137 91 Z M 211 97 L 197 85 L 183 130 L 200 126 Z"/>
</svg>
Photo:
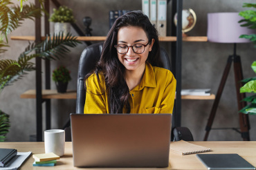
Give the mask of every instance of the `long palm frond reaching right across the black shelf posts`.
<svg viewBox="0 0 256 170">
<path fill-rule="evenodd" d="M 46 36 L 46 39 L 39 44 L 29 44 L 23 53 L 15 59 L 1 59 L 0 60 L 0 93 L 5 86 L 17 81 L 28 71 L 35 70 L 35 64 L 30 62 L 35 57 L 42 59 L 60 59 L 64 54 L 70 50 L 66 48 L 75 47 L 80 44 L 68 33 L 66 37 L 62 34 L 53 34 L 53 36 Z M 37 53 L 33 53 L 33 52 Z"/>
</svg>

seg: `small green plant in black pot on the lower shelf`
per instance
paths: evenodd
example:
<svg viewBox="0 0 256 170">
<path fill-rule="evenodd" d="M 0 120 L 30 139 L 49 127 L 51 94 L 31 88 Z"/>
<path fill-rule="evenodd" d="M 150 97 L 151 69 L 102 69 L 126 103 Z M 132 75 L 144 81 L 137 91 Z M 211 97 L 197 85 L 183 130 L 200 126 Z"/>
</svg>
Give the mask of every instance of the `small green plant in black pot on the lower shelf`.
<svg viewBox="0 0 256 170">
<path fill-rule="evenodd" d="M 70 70 L 65 66 L 59 66 L 53 70 L 53 81 L 56 84 L 58 93 L 66 93 L 68 82 L 71 81 Z"/>
</svg>

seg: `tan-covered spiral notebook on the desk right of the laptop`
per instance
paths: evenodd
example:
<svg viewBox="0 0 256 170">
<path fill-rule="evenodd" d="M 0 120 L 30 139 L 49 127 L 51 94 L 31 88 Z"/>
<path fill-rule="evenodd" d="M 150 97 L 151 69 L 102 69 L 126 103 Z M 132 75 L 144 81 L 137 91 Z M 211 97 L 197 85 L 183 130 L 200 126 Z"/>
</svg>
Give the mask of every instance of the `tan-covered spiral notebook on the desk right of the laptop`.
<svg viewBox="0 0 256 170">
<path fill-rule="evenodd" d="M 180 155 L 189 155 L 193 153 L 203 153 L 208 151 L 211 151 L 211 149 L 199 146 L 197 144 L 192 144 L 184 140 L 171 142 L 170 144 L 170 152 L 178 153 Z"/>
</svg>

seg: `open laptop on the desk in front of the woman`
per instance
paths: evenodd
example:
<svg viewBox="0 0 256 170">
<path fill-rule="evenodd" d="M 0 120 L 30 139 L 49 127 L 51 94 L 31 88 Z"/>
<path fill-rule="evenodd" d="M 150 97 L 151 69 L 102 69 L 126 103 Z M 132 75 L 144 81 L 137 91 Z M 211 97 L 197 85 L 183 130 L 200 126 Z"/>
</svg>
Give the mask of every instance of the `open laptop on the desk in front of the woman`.
<svg viewBox="0 0 256 170">
<path fill-rule="evenodd" d="M 74 167 L 168 167 L 171 114 L 72 114 Z"/>
</svg>

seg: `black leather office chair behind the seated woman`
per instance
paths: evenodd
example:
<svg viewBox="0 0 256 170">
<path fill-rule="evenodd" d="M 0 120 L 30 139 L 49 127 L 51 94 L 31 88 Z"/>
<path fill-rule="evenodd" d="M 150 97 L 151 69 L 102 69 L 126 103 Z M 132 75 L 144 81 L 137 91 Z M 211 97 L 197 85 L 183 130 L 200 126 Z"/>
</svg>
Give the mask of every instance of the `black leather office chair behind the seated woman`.
<svg viewBox="0 0 256 170">
<path fill-rule="evenodd" d="M 86 97 L 86 91 L 84 89 L 84 76 L 89 73 L 95 66 L 95 64 L 100 59 L 100 54 L 102 52 L 103 43 L 92 44 L 87 46 L 80 57 L 80 62 L 78 66 L 77 73 L 77 102 L 76 102 L 76 112 L 84 113 L 84 102 Z M 163 68 L 170 70 L 170 59 L 164 48 L 160 50 L 161 60 L 163 62 Z M 193 141 L 193 136 L 190 130 L 186 127 L 172 127 L 174 134 L 174 140 L 187 140 Z M 66 141 L 71 141 L 71 131 L 70 128 L 66 128 Z"/>
</svg>

